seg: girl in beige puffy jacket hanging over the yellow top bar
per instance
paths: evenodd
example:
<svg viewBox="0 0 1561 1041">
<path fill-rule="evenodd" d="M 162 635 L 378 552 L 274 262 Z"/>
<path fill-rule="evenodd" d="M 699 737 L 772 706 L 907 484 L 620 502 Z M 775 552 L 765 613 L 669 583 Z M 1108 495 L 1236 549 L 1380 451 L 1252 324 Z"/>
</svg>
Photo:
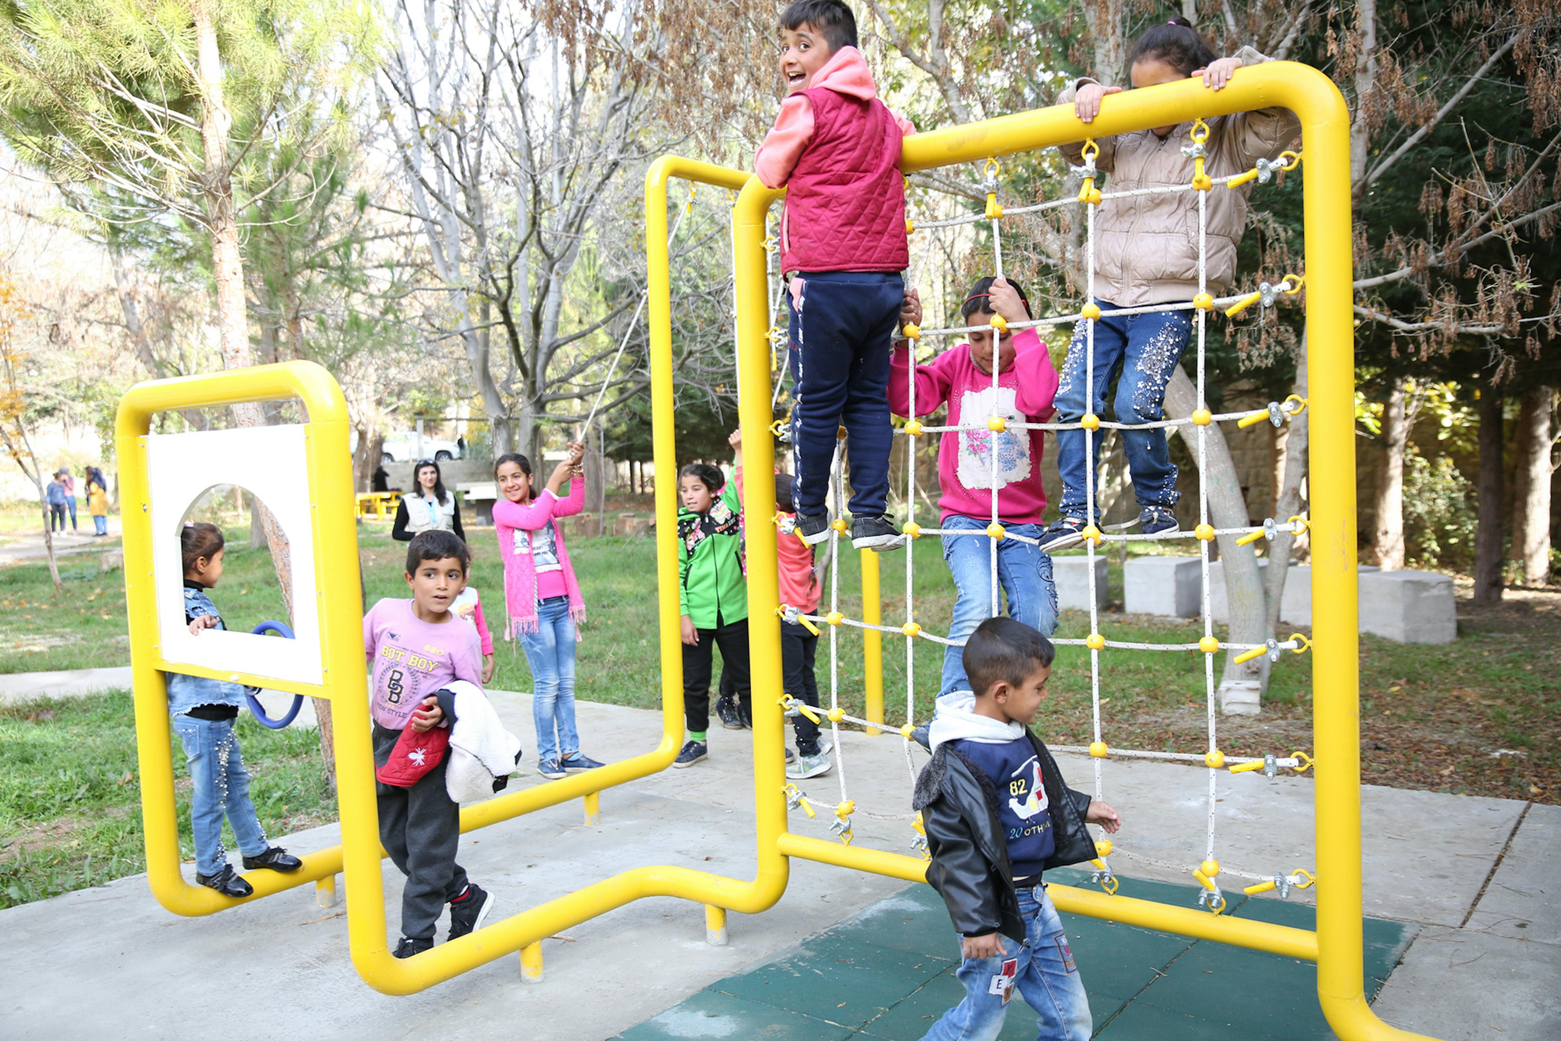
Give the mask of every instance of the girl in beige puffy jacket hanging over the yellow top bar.
<svg viewBox="0 0 1561 1041">
<path fill-rule="evenodd" d="M 1205 86 L 1219 91 L 1236 69 L 1264 61 L 1268 58 L 1250 47 L 1243 47 L 1235 58 L 1218 58 L 1182 17 L 1146 31 L 1130 55 L 1135 87 L 1202 76 Z M 1090 123 L 1101 112 L 1101 98 L 1121 89 L 1082 78 L 1057 100 L 1072 101 L 1079 119 Z M 1300 123 L 1286 109 L 1261 109 L 1211 119 L 1208 128 L 1205 170 L 1219 178 L 1247 170 L 1260 158 L 1277 158 L 1300 131 Z M 1179 123 L 1104 137 L 1096 142 L 1101 148 L 1096 169 L 1110 175 L 1111 192 L 1188 184 L 1193 158 L 1182 147 L 1191 140 L 1189 130 L 1191 123 Z M 1077 165 L 1083 161 L 1083 144 L 1065 145 L 1061 153 Z M 1236 243 L 1246 226 L 1249 190 L 1249 186 L 1235 190 L 1216 186 L 1207 192 L 1205 276 L 1208 292 L 1216 297 L 1236 275 Z M 1094 323 L 1094 385 L 1085 387 L 1088 323 L 1080 322 L 1057 389 L 1058 421 L 1077 423 L 1085 414 L 1101 415 L 1107 387 L 1118 371 L 1116 420 L 1160 420 L 1166 384 L 1191 339 L 1193 312 L 1186 307 L 1132 315 L 1110 312 L 1186 304 L 1196 293 L 1197 192 L 1118 197 L 1101 203 L 1094 215 L 1094 303 L 1107 314 Z M 1097 454 L 1101 439 L 1093 442 Z M 1144 534 L 1177 531 L 1171 509 L 1179 498 L 1177 468 L 1165 432 L 1125 429 L 1122 448 Z M 1085 478 L 1094 459 L 1086 457 L 1083 431 L 1058 431 L 1057 465 L 1063 481 L 1061 517 L 1041 535 L 1041 548 L 1049 552 L 1077 545 L 1085 524 L 1099 523 L 1094 504 L 1086 501 Z"/>
</svg>

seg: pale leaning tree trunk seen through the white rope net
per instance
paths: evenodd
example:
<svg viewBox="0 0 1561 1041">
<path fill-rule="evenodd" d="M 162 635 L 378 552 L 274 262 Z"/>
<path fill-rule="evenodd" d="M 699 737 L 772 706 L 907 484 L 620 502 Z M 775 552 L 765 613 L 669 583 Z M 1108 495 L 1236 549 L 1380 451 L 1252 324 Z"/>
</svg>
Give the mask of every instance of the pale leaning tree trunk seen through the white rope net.
<svg viewBox="0 0 1561 1041">
<path fill-rule="evenodd" d="M 1197 389 L 1179 365 L 1166 385 L 1166 415 L 1186 418 L 1197 409 Z M 1208 520 L 1214 528 L 1246 528 L 1247 501 L 1241 495 L 1241 479 L 1230 457 L 1225 434 L 1218 425 L 1197 428 L 1177 426 L 1193 457 L 1197 459 L 1199 429 L 1207 429 L 1204 471 L 1199 481 L 1208 495 Z M 1225 595 L 1230 604 L 1230 643 L 1263 643 L 1264 632 L 1263 581 L 1258 574 L 1258 559 L 1252 546 L 1238 546 L 1236 535 L 1219 535 L 1219 559 L 1225 571 Z M 1261 710 L 1263 691 L 1268 688 L 1268 656 L 1243 665 L 1236 656 L 1225 656 L 1225 671 L 1219 682 L 1219 710 L 1225 715 L 1257 715 Z"/>
</svg>

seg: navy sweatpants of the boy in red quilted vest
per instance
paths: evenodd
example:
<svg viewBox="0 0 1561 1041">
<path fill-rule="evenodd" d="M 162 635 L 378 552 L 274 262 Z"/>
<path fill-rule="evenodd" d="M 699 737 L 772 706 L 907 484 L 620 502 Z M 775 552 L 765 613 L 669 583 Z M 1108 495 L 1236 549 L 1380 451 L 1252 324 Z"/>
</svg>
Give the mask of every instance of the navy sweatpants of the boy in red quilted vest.
<svg viewBox="0 0 1561 1041">
<path fill-rule="evenodd" d="M 798 289 L 801 282 L 801 289 Z M 851 513 L 882 517 L 888 509 L 888 361 L 905 298 L 899 275 L 801 272 L 793 276 L 791 445 L 796 512 L 829 509 L 829 462 L 835 432 L 846 428 Z"/>
</svg>

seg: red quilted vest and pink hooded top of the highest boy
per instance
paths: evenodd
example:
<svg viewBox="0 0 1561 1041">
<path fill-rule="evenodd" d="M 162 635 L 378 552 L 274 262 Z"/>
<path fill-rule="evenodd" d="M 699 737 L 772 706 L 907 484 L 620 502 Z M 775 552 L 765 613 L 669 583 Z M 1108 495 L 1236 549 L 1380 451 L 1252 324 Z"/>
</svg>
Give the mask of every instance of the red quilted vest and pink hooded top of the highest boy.
<svg viewBox="0 0 1561 1041">
<path fill-rule="evenodd" d="M 785 272 L 898 272 L 909 264 L 899 148 L 916 128 L 877 100 L 855 47 L 841 47 L 780 114 L 754 156 L 766 187 L 790 186 Z"/>
</svg>

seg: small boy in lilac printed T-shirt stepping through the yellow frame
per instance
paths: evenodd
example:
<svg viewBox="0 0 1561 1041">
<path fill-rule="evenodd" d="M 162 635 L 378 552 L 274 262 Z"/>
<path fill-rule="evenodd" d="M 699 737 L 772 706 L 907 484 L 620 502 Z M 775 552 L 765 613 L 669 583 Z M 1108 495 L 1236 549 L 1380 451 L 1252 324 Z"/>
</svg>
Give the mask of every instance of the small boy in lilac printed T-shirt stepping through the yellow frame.
<svg viewBox="0 0 1561 1041">
<path fill-rule="evenodd" d="M 482 685 L 478 631 L 451 613 L 467 584 L 471 554 L 454 532 L 418 532 L 406 548 L 411 599 L 386 598 L 364 615 L 375 766 L 384 766 L 406 727 L 426 734 L 450 726 L 439 691 L 464 679 Z M 460 805 L 445 788 L 448 757 L 411 787 L 376 782 L 379 841 L 406 876 L 401 891 L 401 943 L 411 958 L 434 946 L 434 926 L 450 904 L 450 940 L 482 927 L 493 894 L 467 880 L 456 863 Z"/>
</svg>

